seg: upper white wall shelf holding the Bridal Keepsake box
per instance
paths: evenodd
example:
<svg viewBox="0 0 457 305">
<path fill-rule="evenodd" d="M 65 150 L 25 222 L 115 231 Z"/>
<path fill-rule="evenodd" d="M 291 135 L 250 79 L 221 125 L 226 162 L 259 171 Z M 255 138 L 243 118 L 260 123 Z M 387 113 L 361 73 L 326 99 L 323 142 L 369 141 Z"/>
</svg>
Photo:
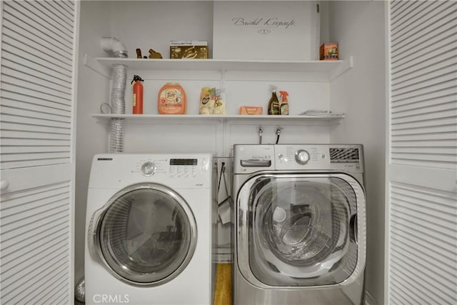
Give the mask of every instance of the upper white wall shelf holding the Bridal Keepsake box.
<svg viewBox="0 0 457 305">
<path fill-rule="evenodd" d="M 330 79 L 344 73 L 353 66 L 353 58 L 339 61 L 252 61 L 225 59 L 132 59 L 96 57 L 84 54 L 84 63 L 91 68 L 104 66 L 111 69 L 114 64 L 124 64 L 129 69 L 154 70 L 216 70 L 216 71 L 296 71 L 324 72 Z M 97 69 L 96 69 L 97 70 Z"/>
</svg>

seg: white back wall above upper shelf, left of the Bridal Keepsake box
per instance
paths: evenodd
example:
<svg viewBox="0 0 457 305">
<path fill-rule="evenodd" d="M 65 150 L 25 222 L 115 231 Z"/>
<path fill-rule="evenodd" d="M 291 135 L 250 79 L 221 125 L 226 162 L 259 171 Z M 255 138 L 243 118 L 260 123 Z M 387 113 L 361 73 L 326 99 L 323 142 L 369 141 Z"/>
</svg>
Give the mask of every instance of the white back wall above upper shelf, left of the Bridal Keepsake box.
<svg viewBox="0 0 457 305">
<path fill-rule="evenodd" d="M 170 40 L 208 41 L 212 50 L 212 1 L 106 1 L 113 4 L 111 32 L 124 42 L 129 57 L 136 48 L 149 49 L 169 59 Z M 211 55 L 211 54 L 210 54 Z"/>
</svg>

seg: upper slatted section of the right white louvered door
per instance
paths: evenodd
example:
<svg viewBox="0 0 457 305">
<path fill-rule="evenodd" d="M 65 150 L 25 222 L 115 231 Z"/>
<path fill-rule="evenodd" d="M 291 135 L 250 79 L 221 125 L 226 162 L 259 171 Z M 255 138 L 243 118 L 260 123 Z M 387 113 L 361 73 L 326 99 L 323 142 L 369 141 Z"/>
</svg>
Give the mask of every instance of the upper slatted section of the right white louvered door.
<svg viewBox="0 0 457 305">
<path fill-rule="evenodd" d="M 391 11 L 391 160 L 454 169 L 457 7 L 453 1 L 429 2 Z M 432 148 L 430 138 L 437 134 L 446 136 Z"/>
</svg>

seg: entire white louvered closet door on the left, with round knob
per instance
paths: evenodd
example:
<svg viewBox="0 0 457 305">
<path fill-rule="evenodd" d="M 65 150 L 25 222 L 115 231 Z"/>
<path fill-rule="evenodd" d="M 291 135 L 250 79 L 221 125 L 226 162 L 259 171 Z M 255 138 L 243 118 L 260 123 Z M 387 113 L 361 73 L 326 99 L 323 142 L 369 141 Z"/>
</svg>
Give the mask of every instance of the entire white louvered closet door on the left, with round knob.
<svg viewBox="0 0 457 305">
<path fill-rule="evenodd" d="M 0 303 L 73 302 L 76 1 L 1 1 Z"/>
</svg>

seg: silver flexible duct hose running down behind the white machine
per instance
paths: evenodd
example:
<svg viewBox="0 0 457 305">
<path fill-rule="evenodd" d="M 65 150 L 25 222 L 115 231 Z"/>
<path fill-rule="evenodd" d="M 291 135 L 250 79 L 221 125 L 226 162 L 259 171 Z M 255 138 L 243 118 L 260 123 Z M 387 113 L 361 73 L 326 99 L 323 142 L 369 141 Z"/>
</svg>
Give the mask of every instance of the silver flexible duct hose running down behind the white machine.
<svg viewBox="0 0 457 305">
<path fill-rule="evenodd" d="M 115 38 L 110 37 L 101 39 L 101 46 L 104 51 L 112 53 L 114 57 L 127 57 L 127 51 L 124 44 Z M 112 79 L 113 86 L 111 88 L 111 109 L 113 114 L 125 114 L 127 66 L 124 64 L 114 65 Z M 110 129 L 110 152 L 124 151 L 125 119 L 111 119 Z"/>
</svg>

